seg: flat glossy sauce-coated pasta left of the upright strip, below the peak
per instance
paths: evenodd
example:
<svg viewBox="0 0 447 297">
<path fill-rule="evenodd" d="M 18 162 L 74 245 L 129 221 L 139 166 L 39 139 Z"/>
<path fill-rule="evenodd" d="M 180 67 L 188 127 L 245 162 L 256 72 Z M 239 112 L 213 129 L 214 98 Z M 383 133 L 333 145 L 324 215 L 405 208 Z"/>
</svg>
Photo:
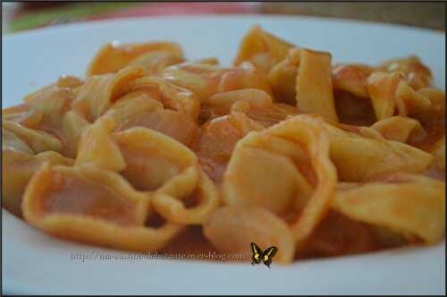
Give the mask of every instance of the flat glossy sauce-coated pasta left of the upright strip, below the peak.
<svg viewBox="0 0 447 297">
<path fill-rule="evenodd" d="M 266 75 L 249 62 L 234 68 L 185 62 L 166 67 L 163 78 L 175 86 L 189 89 L 200 102 L 217 93 L 243 88 L 257 88 L 271 94 Z"/>
</svg>

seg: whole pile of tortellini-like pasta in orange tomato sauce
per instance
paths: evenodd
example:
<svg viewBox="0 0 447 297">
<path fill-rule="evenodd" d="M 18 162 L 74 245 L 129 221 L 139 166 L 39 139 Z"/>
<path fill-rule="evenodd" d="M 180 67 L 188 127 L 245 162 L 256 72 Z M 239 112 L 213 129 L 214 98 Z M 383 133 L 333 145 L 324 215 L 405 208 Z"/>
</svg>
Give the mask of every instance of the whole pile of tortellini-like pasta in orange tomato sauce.
<svg viewBox="0 0 447 297">
<path fill-rule="evenodd" d="M 2 205 L 48 235 L 274 263 L 445 232 L 445 92 L 417 56 L 336 63 L 255 26 L 231 66 L 110 43 L 2 111 Z"/>
</svg>

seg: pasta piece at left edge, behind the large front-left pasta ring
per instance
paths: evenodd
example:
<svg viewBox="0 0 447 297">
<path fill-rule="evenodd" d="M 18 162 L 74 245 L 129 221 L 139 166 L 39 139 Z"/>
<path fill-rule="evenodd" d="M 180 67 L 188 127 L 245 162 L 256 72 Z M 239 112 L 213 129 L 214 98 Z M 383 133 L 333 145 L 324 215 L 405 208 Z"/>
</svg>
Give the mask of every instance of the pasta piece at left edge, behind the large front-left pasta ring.
<svg viewBox="0 0 447 297">
<path fill-rule="evenodd" d="M 21 217 L 21 199 L 30 178 L 40 166 L 48 162 L 52 165 L 72 165 L 72 159 L 59 153 L 24 153 L 13 149 L 3 149 L 2 156 L 2 205 L 6 210 Z"/>
</svg>

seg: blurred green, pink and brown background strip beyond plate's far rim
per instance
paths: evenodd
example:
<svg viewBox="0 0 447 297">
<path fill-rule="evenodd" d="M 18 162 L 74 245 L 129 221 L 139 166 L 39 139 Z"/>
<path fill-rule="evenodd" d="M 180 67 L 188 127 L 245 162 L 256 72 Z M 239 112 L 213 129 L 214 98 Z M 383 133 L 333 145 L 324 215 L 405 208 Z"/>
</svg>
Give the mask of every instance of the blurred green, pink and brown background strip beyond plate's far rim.
<svg viewBox="0 0 447 297">
<path fill-rule="evenodd" d="M 445 3 L 2 3 L 3 34 L 76 21 L 160 15 L 266 13 L 344 18 L 445 30 Z"/>
</svg>

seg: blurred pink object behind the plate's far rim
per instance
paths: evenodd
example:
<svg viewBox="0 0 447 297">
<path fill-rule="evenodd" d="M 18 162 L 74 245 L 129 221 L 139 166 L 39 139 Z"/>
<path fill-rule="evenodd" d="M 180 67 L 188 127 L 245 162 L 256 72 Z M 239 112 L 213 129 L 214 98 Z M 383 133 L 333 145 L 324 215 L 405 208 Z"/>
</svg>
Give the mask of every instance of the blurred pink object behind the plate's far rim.
<svg viewBox="0 0 447 297">
<path fill-rule="evenodd" d="M 259 3 L 157 3 L 142 4 L 118 12 L 89 17 L 88 21 L 156 15 L 259 13 Z"/>
</svg>

